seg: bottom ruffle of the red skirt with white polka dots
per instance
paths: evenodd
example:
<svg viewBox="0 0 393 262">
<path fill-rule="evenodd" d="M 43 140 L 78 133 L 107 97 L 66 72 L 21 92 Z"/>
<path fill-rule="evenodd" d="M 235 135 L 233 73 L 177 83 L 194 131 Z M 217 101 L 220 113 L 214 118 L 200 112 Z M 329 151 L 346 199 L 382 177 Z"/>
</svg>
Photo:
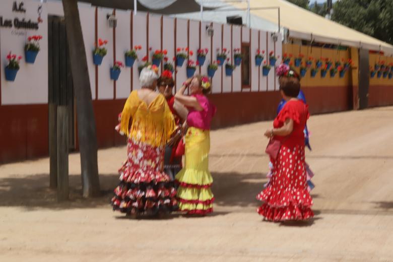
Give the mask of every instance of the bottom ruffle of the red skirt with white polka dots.
<svg viewBox="0 0 393 262">
<path fill-rule="evenodd" d="M 307 220 L 314 217 L 309 207 L 290 205 L 287 207 L 273 207 L 265 203 L 256 212 L 269 221 L 280 222 L 287 220 Z"/>
</svg>

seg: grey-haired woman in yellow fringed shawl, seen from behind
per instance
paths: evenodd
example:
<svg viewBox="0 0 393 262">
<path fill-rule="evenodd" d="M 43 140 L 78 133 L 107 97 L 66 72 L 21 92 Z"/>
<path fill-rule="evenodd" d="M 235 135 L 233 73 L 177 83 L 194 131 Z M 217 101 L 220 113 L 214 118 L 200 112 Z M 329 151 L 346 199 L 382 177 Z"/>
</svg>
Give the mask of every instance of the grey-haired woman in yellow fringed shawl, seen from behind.
<svg viewBox="0 0 393 262">
<path fill-rule="evenodd" d="M 163 172 L 164 149 L 175 130 L 165 97 L 154 92 L 158 69 L 141 72 L 141 90 L 131 92 L 116 130 L 126 135 L 127 161 L 119 169 L 113 210 L 126 214 L 161 214 L 177 210 L 173 181 Z"/>
</svg>

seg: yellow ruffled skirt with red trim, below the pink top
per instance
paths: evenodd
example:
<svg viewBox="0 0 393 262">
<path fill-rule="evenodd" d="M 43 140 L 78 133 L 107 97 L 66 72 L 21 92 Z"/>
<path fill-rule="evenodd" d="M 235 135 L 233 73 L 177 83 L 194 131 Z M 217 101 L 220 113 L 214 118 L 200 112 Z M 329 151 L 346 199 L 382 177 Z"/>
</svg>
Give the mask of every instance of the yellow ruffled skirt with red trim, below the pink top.
<svg viewBox="0 0 393 262">
<path fill-rule="evenodd" d="M 189 127 L 185 136 L 185 166 L 175 177 L 179 184 L 179 211 L 201 215 L 213 212 L 209 151 L 209 130 Z"/>
</svg>

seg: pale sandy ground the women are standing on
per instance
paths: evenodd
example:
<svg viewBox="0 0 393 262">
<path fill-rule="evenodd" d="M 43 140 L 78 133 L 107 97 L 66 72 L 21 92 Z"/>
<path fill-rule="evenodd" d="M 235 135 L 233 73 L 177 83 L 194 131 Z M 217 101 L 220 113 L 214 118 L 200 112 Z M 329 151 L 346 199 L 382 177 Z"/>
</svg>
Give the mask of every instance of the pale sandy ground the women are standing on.
<svg viewBox="0 0 393 262">
<path fill-rule="evenodd" d="M 125 147 L 100 150 L 103 197 L 48 189 L 47 158 L 0 167 L 0 261 L 393 261 L 393 107 L 311 116 L 315 219 L 270 223 L 255 212 L 268 158 L 259 122 L 212 132 L 215 213 L 125 219 L 108 205 Z"/>
</svg>

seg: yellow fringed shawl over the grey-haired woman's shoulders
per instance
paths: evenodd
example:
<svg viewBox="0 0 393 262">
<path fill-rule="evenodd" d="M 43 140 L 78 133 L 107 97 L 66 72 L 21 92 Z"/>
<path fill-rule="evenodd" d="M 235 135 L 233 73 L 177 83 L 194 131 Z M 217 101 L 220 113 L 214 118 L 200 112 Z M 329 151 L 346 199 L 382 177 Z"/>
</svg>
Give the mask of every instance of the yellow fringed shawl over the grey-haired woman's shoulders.
<svg viewBox="0 0 393 262">
<path fill-rule="evenodd" d="M 130 119 L 132 125 L 128 130 Z M 120 133 L 127 137 L 155 147 L 164 146 L 175 127 L 172 112 L 163 95 L 159 94 L 147 105 L 135 90 L 125 101 L 120 119 Z"/>
</svg>

